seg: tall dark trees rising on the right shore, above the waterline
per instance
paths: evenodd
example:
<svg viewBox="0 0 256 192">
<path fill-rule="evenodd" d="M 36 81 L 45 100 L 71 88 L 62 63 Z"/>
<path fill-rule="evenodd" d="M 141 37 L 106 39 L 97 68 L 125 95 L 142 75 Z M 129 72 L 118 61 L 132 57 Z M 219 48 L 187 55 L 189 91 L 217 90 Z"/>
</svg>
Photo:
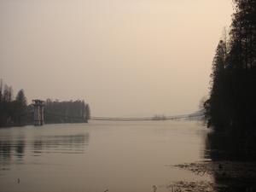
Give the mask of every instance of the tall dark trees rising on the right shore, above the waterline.
<svg viewBox="0 0 256 192">
<path fill-rule="evenodd" d="M 256 126 L 256 0 L 234 0 L 229 35 L 212 62 L 207 125 L 218 131 L 254 131 Z"/>
</svg>

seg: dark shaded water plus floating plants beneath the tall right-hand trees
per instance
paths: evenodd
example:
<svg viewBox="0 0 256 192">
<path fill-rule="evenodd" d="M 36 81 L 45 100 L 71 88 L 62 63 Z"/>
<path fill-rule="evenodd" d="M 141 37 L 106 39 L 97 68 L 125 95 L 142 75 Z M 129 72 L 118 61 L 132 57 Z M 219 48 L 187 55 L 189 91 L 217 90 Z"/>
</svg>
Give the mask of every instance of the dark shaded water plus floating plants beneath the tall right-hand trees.
<svg viewBox="0 0 256 192">
<path fill-rule="evenodd" d="M 171 191 L 251 192 L 256 191 L 256 144 L 254 135 L 211 131 L 204 149 L 206 160 L 173 165 L 212 182 L 171 183 Z"/>
</svg>

